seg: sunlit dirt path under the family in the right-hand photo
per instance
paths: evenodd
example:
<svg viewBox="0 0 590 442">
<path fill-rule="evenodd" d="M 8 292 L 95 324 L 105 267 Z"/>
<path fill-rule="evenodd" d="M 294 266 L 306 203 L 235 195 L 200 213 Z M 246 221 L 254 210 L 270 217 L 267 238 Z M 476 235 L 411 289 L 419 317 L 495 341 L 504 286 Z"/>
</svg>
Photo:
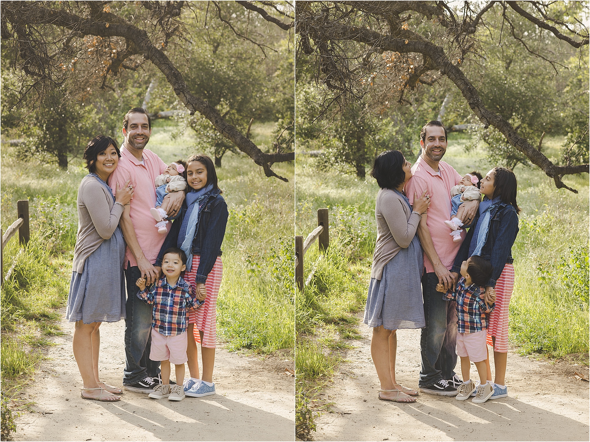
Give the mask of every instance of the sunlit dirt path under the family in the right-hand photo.
<svg viewBox="0 0 590 442">
<path fill-rule="evenodd" d="M 414 404 L 377 399 L 378 378 L 371 359 L 369 329 L 343 358 L 323 398 L 332 413 L 316 419 L 314 440 L 584 440 L 589 438 L 588 367 L 540 362 L 508 354 L 509 396 L 484 404 L 420 393 Z M 419 330 L 398 331 L 397 379 L 418 387 Z M 492 362 L 493 364 L 493 362 Z M 493 365 L 492 365 L 493 366 Z M 457 367 L 460 370 L 460 367 Z M 477 372 L 472 364 L 471 376 Z"/>
</svg>

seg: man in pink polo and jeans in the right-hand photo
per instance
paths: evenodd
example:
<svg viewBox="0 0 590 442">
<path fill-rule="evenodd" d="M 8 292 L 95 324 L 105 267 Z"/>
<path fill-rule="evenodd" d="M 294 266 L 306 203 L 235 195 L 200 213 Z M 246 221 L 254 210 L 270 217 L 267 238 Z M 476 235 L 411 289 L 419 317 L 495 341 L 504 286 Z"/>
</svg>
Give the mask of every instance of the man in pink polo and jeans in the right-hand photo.
<svg viewBox="0 0 590 442">
<path fill-rule="evenodd" d="M 427 227 L 418 226 L 418 238 L 424 250 L 422 297 L 424 319 L 420 351 L 422 370 L 418 386 L 420 391 L 442 396 L 457 395 L 461 380 L 455 374 L 457 365 L 457 314 L 455 303 L 445 301 L 443 293 L 436 291 L 437 283 L 445 288 L 453 285 L 450 269 L 461 243 L 453 242 L 450 229 L 444 225 L 451 213 L 451 187 L 461 180 L 461 175 L 450 164 L 441 161 L 447 150 L 447 129 L 440 121 L 429 121 L 420 131 L 422 153 L 414 167 L 414 175 L 406 184 L 405 192 L 413 203 L 414 194 L 424 190 L 431 197 Z M 469 204 L 465 225 L 469 225 L 477 212 L 479 202 Z M 461 233 L 465 238 L 465 232 Z"/>
</svg>

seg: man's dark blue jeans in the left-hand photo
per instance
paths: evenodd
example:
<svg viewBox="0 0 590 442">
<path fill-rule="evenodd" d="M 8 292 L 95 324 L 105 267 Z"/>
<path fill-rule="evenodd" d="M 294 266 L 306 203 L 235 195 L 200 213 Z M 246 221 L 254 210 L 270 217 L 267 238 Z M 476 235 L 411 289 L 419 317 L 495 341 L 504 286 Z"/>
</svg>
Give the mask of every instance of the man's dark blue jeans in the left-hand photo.
<svg viewBox="0 0 590 442">
<path fill-rule="evenodd" d="M 152 344 L 152 306 L 137 298 L 139 288 L 135 282 L 141 273 L 139 268 L 127 265 L 127 302 L 125 311 L 125 370 L 123 384 L 132 385 L 146 377 L 156 377 L 160 372 L 160 362 L 149 358 Z"/>
</svg>

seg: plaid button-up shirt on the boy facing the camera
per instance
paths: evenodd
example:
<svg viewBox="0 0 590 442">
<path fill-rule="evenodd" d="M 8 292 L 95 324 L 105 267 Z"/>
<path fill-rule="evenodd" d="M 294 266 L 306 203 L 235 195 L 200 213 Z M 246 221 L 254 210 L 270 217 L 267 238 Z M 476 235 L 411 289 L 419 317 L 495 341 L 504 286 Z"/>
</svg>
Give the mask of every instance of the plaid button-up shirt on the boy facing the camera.
<svg viewBox="0 0 590 442">
<path fill-rule="evenodd" d="M 176 336 L 186 330 L 186 310 L 198 308 L 204 301 L 196 299 L 195 289 L 179 278 L 175 286 L 163 276 L 151 288 L 139 291 L 137 297 L 153 304 L 152 327 L 164 336 Z"/>
</svg>

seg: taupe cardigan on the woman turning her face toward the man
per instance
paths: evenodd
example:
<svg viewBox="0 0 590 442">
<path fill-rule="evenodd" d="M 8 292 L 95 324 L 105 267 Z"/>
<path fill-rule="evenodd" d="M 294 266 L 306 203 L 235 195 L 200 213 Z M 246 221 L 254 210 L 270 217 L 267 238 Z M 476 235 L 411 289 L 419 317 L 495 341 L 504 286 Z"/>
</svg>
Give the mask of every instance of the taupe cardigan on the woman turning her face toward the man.
<svg viewBox="0 0 590 442">
<path fill-rule="evenodd" d="M 412 213 L 402 196 L 391 189 L 381 189 L 375 203 L 377 242 L 373 254 L 371 278 L 381 279 L 383 267 L 402 248 L 408 248 L 422 216 Z"/>
</svg>

